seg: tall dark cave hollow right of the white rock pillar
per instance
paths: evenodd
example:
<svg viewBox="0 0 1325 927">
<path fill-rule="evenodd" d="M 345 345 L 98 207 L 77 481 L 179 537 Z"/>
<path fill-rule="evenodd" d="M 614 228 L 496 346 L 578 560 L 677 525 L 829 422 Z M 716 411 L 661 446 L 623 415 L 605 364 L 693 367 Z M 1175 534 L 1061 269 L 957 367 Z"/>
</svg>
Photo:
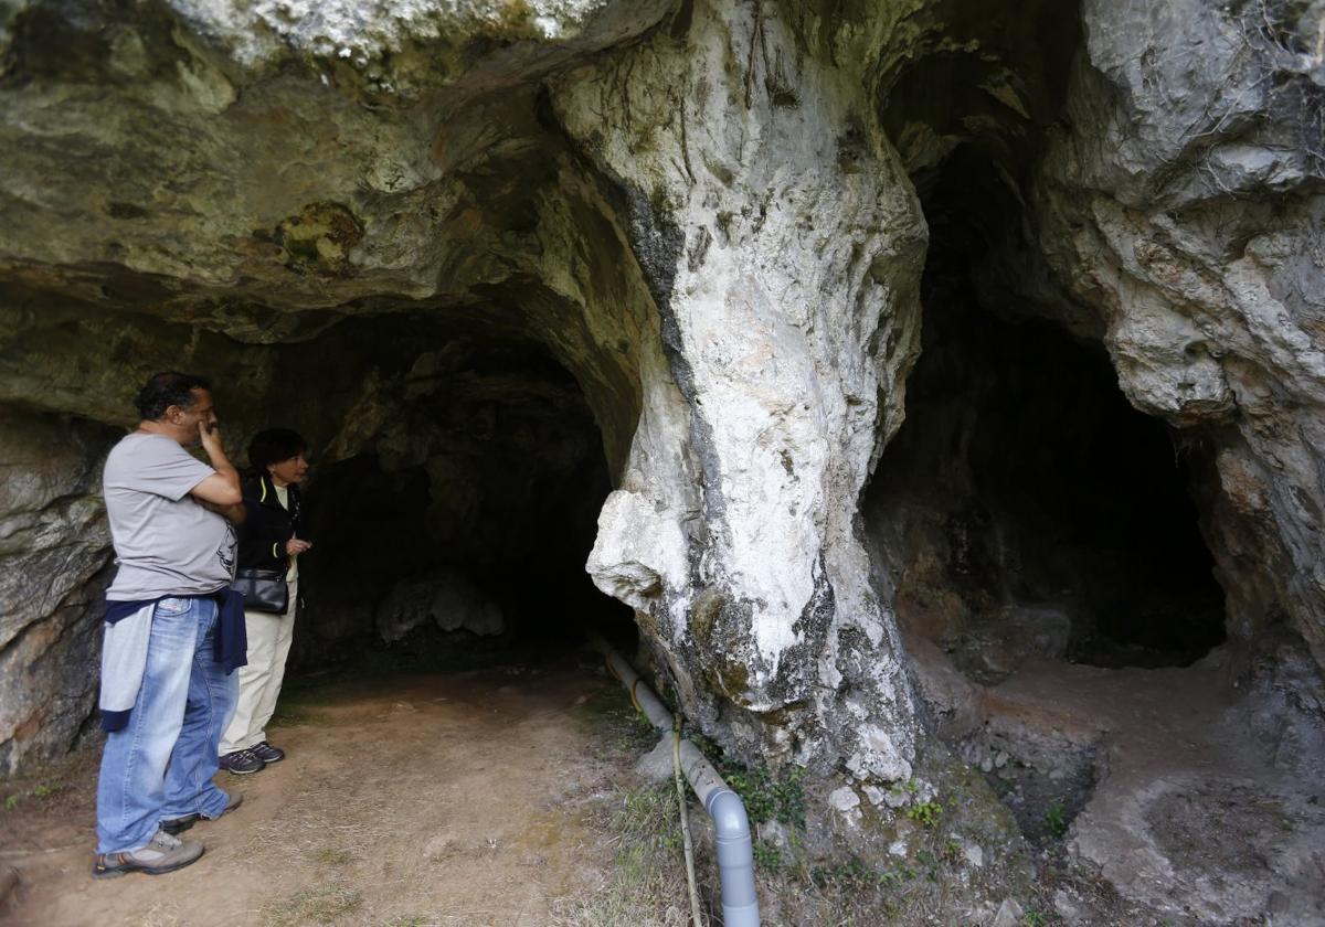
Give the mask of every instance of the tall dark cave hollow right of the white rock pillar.
<svg viewBox="0 0 1325 927">
<path fill-rule="evenodd" d="M 980 682 L 1028 657 L 1183 666 L 1224 640 L 1185 436 L 1133 409 L 1098 323 L 1044 273 L 1028 205 L 1073 5 L 953 0 L 947 50 L 881 101 L 930 226 L 908 420 L 867 493 L 904 629 Z"/>
</svg>

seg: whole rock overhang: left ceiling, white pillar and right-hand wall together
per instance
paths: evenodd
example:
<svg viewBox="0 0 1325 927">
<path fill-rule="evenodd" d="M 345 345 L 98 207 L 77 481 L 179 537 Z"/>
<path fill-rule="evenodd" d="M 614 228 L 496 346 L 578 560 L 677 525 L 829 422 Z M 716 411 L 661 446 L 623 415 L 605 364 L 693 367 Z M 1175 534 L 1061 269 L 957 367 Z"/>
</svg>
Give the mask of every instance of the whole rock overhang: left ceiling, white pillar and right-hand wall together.
<svg viewBox="0 0 1325 927">
<path fill-rule="evenodd" d="M 1198 494 L 1230 628 L 1255 652 L 1287 620 L 1318 652 L 1318 81 L 1312 42 L 1275 29 L 1320 30 L 1189 12 L 1155 23 L 1206 70 L 1146 64 L 1093 3 L 1003 34 L 963 3 L 11 5 L 0 396 L 122 424 L 150 368 L 201 364 L 266 415 L 282 371 L 313 368 L 292 358 L 335 346 L 362 363 L 298 412 L 331 457 L 380 449 L 390 471 L 423 453 L 386 426 L 391 391 L 425 397 L 447 362 L 383 372 L 375 330 L 543 346 L 616 486 L 590 572 L 686 711 L 745 756 L 877 789 L 925 734 L 860 498 L 961 208 L 922 215 L 914 188 L 974 158 L 999 191 L 971 220 L 996 245 L 982 279 L 1104 340 L 1134 405 L 1216 446 Z M 1053 62 L 1018 57 L 1032 38 Z M 1293 93 L 1261 94 L 1267 73 Z M 1230 119 L 1177 131 L 1224 83 Z"/>
</svg>

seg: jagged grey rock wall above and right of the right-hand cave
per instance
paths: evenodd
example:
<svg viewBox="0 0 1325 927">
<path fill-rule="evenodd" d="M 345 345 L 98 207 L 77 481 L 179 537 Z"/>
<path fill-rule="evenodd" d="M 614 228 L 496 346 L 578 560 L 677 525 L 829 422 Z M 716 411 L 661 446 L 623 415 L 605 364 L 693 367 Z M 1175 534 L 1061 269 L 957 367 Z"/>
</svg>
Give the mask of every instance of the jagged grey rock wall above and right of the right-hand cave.
<svg viewBox="0 0 1325 927">
<path fill-rule="evenodd" d="M 973 9 L 920 17 L 885 101 L 931 222 L 988 310 L 1102 342 L 1174 426 L 1243 669 L 1280 628 L 1321 662 L 1321 5 Z M 935 81 L 967 91 L 905 93 Z"/>
</svg>

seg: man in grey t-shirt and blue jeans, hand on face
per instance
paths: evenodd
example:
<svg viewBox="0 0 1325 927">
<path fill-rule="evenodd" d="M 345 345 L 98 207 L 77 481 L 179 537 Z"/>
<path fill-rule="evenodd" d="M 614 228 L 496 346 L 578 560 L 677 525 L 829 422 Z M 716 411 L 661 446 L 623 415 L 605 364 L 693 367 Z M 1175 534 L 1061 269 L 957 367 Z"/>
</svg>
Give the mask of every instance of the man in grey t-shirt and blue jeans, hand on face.
<svg viewBox="0 0 1325 927">
<path fill-rule="evenodd" d="M 212 783 L 237 690 L 217 657 L 216 596 L 235 575 L 238 473 L 205 380 L 158 373 L 136 404 L 138 430 L 103 477 L 119 572 L 106 592 L 97 878 L 189 865 L 203 845 L 175 834 L 238 806 Z M 197 444 L 211 466 L 184 450 Z"/>
</svg>

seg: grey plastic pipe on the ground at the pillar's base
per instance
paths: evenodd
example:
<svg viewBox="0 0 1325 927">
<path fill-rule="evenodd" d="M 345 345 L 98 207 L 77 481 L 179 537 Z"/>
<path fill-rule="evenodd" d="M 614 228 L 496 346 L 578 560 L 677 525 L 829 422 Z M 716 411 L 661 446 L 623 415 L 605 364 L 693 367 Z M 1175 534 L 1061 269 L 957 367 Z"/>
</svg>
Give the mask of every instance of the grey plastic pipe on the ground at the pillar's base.
<svg viewBox="0 0 1325 927">
<path fill-rule="evenodd" d="M 608 666 L 621 681 L 644 716 L 659 731 L 670 735 L 672 712 L 653 694 L 648 683 L 640 678 L 635 667 L 625 662 L 611 644 L 598 634 L 590 641 L 607 658 Z M 745 804 L 722 781 L 718 771 L 704 757 L 700 748 L 689 740 L 681 740 L 681 772 L 690 783 L 696 796 L 704 804 L 704 810 L 713 818 L 718 845 L 718 882 L 722 887 L 722 922 L 726 927 L 759 927 L 759 898 L 754 891 L 754 845 L 750 838 L 750 818 Z"/>
</svg>

